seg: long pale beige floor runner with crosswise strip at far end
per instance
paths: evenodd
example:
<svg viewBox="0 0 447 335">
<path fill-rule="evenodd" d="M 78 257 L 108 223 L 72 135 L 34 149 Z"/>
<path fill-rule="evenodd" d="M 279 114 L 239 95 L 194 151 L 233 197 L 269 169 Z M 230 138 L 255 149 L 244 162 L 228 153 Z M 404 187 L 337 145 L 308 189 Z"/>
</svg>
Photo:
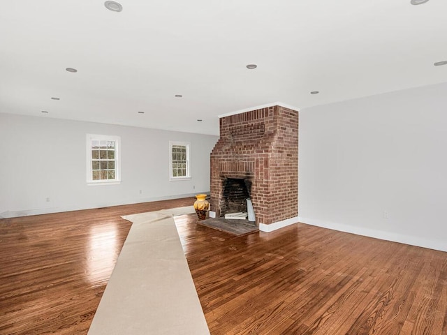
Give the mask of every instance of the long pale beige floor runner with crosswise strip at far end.
<svg viewBox="0 0 447 335">
<path fill-rule="evenodd" d="M 210 334 L 173 219 L 191 212 L 123 216 L 133 225 L 88 335 Z"/>
</svg>

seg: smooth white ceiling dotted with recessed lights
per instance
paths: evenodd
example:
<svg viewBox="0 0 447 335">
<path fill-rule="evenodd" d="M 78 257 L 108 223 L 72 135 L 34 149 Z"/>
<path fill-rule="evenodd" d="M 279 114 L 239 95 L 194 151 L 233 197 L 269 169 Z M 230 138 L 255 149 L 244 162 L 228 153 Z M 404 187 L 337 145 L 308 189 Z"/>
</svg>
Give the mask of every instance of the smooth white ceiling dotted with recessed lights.
<svg viewBox="0 0 447 335">
<path fill-rule="evenodd" d="M 2 1 L 0 112 L 218 135 L 248 107 L 447 81 L 446 0 L 119 2 Z"/>
</svg>

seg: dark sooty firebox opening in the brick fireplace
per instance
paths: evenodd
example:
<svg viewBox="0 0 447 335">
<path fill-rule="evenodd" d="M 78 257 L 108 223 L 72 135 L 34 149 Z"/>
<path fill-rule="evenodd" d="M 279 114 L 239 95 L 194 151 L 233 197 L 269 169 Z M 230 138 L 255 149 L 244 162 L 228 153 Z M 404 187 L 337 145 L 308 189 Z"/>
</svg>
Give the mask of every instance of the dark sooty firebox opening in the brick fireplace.
<svg viewBox="0 0 447 335">
<path fill-rule="evenodd" d="M 220 216 L 228 213 L 246 212 L 247 198 L 250 198 L 251 181 L 248 179 L 223 179 Z"/>
</svg>

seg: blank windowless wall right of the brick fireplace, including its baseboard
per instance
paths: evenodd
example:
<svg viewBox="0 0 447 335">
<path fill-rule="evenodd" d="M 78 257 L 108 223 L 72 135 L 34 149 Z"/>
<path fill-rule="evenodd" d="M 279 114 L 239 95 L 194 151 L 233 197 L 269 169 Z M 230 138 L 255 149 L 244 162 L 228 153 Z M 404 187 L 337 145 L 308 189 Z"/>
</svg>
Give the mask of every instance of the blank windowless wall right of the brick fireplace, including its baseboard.
<svg viewBox="0 0 447 335">
<path fill-rule="evenodd" d="M 301 222 L 447 251 L 447 83 L 303 109 L 299 141 Z"/>
</svg>

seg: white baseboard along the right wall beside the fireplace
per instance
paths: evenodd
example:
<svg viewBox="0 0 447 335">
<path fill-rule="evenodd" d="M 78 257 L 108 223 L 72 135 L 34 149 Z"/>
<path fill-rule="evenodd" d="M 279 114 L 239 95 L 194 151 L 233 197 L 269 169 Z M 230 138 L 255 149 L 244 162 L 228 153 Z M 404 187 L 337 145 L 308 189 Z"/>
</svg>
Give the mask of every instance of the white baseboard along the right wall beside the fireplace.
<svg viewBox="0 0 447 335">
<path fill-rule="evenodd" d="M 397 234 L 395 232 L 385 232 L 383 230 L 355 227 L 353 225 L 343 225 L 341 223 L 323 221 L 314 218 L 298 217 L 298 221 L 301 223 L 306 223 L 307 225 L 315 225 L 316 227 L 338 230 L 339 232 L 349 232 L 351 234 L 374 237 L 375 239 L 384 239 L 386 241 L 409 244 L 411 246 L 420 246 L 438 251 L 447 251 L 447 241 L 436 241 L 412 235 Z"/>
</svg>

